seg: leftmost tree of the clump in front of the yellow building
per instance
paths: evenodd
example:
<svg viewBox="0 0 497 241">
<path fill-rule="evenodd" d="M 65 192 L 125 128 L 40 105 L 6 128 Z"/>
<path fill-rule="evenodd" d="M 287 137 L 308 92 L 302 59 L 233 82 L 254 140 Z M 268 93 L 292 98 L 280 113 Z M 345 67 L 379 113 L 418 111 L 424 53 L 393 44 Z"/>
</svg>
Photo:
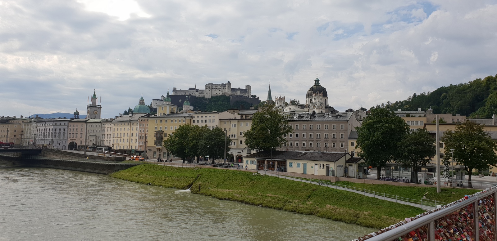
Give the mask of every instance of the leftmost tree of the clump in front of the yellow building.
<svg viewBox="0 0 497 241">
<path fill-rule="evenodd" d="M 166 150 L 174 156 L 183 159 L 183 162 L 189 157 L 188 141 L 191 132 L 192 125 L 182 124 L 164 140 L 164 147 Z"/>
</svg>

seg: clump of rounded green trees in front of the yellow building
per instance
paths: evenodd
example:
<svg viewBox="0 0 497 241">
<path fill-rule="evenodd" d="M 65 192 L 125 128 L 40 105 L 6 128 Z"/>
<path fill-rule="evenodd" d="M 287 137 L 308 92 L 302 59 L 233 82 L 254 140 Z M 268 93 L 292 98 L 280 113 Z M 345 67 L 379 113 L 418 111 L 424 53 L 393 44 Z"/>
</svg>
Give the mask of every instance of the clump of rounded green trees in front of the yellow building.
<svg viewBox="0 0 497 241">
<path fill-rule="evenodd" d="M 230 142 L 231 138 L 221 127 L 209 129 L 207 125 L 183 124 L 164 140 L 164 147 L 183 161 L 209 156 L 214 162 L 214 159 L 224 158 L 225 143 L 226 152 L 230 151 Z"/>
</svg>

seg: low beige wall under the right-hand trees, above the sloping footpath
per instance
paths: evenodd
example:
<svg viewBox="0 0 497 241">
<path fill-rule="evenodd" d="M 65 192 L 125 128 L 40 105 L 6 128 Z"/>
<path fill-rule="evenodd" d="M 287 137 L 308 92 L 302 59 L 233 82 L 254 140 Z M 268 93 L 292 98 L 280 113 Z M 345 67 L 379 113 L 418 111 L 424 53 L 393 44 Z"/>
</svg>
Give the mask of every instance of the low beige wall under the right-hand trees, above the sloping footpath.
<svg viewBox="0 0 497 241">
<path fill-rule="evenodd" d="M 271 171 L 269 171 L 271 172 Z M 271 172 L 275 173 L 276 172 Z M 278 172 L 279 175 L 285 175 L 285 176 L 294 176 L 298 178 L 308 178 L 308 179 L 320 179 L 320 180 L 326 180 L 326 181 L 331 181 L 331 182 L 336 182 L 336 181 L 350 181 L 350 182 L 355 182 L 355 183 L 366 183 L 366 184 L 388 184 L 388 185 L 394 185 L 394 186 L 426 186 L 426 187 L 433 187 L 433 185 L 425 185 L 425 184 L 417 184 L 417 183 L 409 183 L 409 182 L 396 182 L 396 181 L 378 181 L 378 180 L 371 180 L 371 179 L 358 179 L 358 178 L 344 178 L 344 177 L 330 177 L 330 176 L 323 176 L 323 175 L 312 175 L 312 174 L 301 174 L 301 173 L 282 173 Z"/>
</svg>

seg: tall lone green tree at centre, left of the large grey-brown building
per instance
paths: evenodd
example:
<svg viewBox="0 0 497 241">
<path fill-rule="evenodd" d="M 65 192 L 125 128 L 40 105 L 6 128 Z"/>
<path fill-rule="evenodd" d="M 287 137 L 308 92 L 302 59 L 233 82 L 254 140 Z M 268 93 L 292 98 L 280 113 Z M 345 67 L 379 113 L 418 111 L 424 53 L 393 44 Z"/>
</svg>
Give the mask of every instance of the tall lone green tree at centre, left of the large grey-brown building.
<svg viewBox="0 0 497 241">
<path fill-rule="evenodd" d="M 288 116 L 275 110 L 274 104 L 265 104 L 260 110 L 253 114 L 252 126 L 245 132 L 245 144 L 252 150 L 281 147 L 286 142 L 285 135 L 293 131 Z"/>
</svg>

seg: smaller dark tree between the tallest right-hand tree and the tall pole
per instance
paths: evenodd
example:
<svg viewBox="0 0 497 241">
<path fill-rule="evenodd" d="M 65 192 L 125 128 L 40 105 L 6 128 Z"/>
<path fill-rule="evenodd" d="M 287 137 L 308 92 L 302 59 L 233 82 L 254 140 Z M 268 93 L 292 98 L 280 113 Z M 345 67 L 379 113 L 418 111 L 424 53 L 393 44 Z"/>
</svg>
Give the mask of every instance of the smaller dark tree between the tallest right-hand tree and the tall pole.
<svg viewBox="0 0 497 241">
<path fill-rule="evenodd" d="M 417 166 L 426 165 L 436 153 L 435 139 L 426 129 L 416 129 L 399 142 L 395 162 L 413 168 L 411 180 L 417 182 Z"/>
</svg>

